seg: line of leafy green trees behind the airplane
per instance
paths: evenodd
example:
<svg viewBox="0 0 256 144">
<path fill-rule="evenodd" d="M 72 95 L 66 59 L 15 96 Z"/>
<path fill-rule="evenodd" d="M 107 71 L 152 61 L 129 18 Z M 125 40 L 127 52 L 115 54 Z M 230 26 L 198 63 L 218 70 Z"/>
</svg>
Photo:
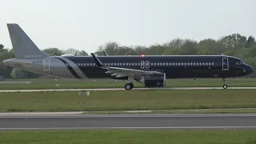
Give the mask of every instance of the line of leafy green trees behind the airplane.
<svg viewBox="0 0 256 144">
<path fill-rule="evenodd" d="M 87 56 L 84 50 L 76 50 L 70 48 L 60 50 L 58 48 L 46 48 L 42 50 L 48 55 L 74 54 L 79 56 Z M 220 55 L 226 54 L 242 58 L 246 63 L 254 66 L 256 69 L 256 42 L 253 36 L 243 36 L 241 34 L 230 34 L 219 38 L 206 38 L 199 42 L 188 38 L 174 38 L 170 42 L 163 44 L 154 44 L 152 46 L 122 46 L 118 42 L 106 42 L 106 44 L 98 47 L 96 54 L 102 55 L 106 51 L 109 55 Z M 0 44 L 0 75 L 4 78 L 39 78 L 42 75 L 33 74 L 23 70 L 12 69 L 2 64 L 7 58 L 14 58 L 12 49 L 6 49 Z M 251 75 L 256 77 L 256 74 Z"/>
</svg>

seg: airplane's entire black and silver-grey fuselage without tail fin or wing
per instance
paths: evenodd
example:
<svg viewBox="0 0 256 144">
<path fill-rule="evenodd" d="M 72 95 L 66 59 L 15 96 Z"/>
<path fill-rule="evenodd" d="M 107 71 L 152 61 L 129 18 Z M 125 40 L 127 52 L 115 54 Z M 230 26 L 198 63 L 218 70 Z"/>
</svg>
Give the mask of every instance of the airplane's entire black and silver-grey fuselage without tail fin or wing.
<svg viewBox="0 0 256 144">
<path fill-rule="evenodd" d="M 234 78 L 251 74 L 254 69 L 241 59 L 226 55 L 177 55 L 177 56 L 98 56 L 105 66 L 134 70 L 157 70 L 166 78 Z M 52 56 L 47 58 L 12 59 L 15 62 L 31 62 L 30 66 L 20 66 L 38 74 L 60 78 L 116 78 L 99 68 L 91 56 Z M 8 63 L 8 62 L 6 62 Z"/>
</svg>

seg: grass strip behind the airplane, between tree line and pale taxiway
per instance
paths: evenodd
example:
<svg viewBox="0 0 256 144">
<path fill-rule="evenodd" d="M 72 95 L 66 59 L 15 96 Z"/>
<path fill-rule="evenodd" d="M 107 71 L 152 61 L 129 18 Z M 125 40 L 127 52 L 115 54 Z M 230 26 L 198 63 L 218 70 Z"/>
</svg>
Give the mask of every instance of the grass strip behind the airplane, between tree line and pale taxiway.
<svg viewBox="0 0 256 144">
<path fill-rule="evenodd" d="M 19 80 L 5 80 L 5 81 L 30 81 L 29 84 L 0 84 L 0 90 L 10 89 L 65 89 L 65 88 L 122 88 L 127 81 L 118 81 L 114 79 L 19 79 Z M 59 84 L 59 86 L 56 86 Z M 228 86 L 256 86 L 256 78 L 228 78 Z M 135 87 L 142 87 L 143 85 L 134 82 Z M 221 78 L 206 78 L 206 79 L 168 79 L 166 87 L 202 87 L 202 86 L 218 86 L 222 87 Z"/>
</svg>

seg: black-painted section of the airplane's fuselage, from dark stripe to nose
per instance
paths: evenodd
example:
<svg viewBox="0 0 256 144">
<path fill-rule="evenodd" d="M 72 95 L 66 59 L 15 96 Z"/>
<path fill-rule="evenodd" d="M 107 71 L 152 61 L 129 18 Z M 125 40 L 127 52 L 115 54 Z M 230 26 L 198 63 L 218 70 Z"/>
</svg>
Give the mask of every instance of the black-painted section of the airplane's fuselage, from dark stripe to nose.
<svg viewBox="0 0 256 144">
<path fill-rule="evenodd" d="M 66 58 L 74 62 L 87 78 L 115 78 L 96 66 L 90 56 Z M 98 59 L 105 66 L 157 70 L 166 73 L 166 78 L 234 78 L 254 71 L 241 59 L 226 55 L 98 56 Z"/>
</svg>

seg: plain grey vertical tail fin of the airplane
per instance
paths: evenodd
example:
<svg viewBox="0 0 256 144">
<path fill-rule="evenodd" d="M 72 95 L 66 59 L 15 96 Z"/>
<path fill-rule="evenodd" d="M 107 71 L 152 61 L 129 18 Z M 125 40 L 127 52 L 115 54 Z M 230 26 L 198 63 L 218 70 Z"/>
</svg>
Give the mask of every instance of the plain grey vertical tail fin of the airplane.
<svg viewBox="0 0 256 144">
<path fill-rule="evenodd" d="M 7 24 L 10 40 L 13 45 L 15 58 L 39 58 L 46 57 L 38 46 L 26 35 L 16 23 Z"/>
</svg>

